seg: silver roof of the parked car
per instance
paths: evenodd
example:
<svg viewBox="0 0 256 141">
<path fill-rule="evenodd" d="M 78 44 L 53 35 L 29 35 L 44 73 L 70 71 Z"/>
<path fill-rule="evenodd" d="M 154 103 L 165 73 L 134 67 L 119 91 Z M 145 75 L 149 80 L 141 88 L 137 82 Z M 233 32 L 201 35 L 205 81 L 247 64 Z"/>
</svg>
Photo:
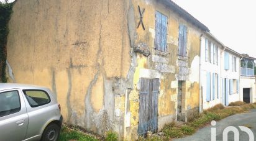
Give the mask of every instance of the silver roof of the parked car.
<svg viewBox="0 0 256 141">
<path fill-rule="evenodd" d="M 48 88 L 43 86 L 35 86 L 32 84 L 19 84 L 19 83 L 0 83 L 0 91 L 5 89 L 43 89 L 47 90 Z"/>
</svg>

